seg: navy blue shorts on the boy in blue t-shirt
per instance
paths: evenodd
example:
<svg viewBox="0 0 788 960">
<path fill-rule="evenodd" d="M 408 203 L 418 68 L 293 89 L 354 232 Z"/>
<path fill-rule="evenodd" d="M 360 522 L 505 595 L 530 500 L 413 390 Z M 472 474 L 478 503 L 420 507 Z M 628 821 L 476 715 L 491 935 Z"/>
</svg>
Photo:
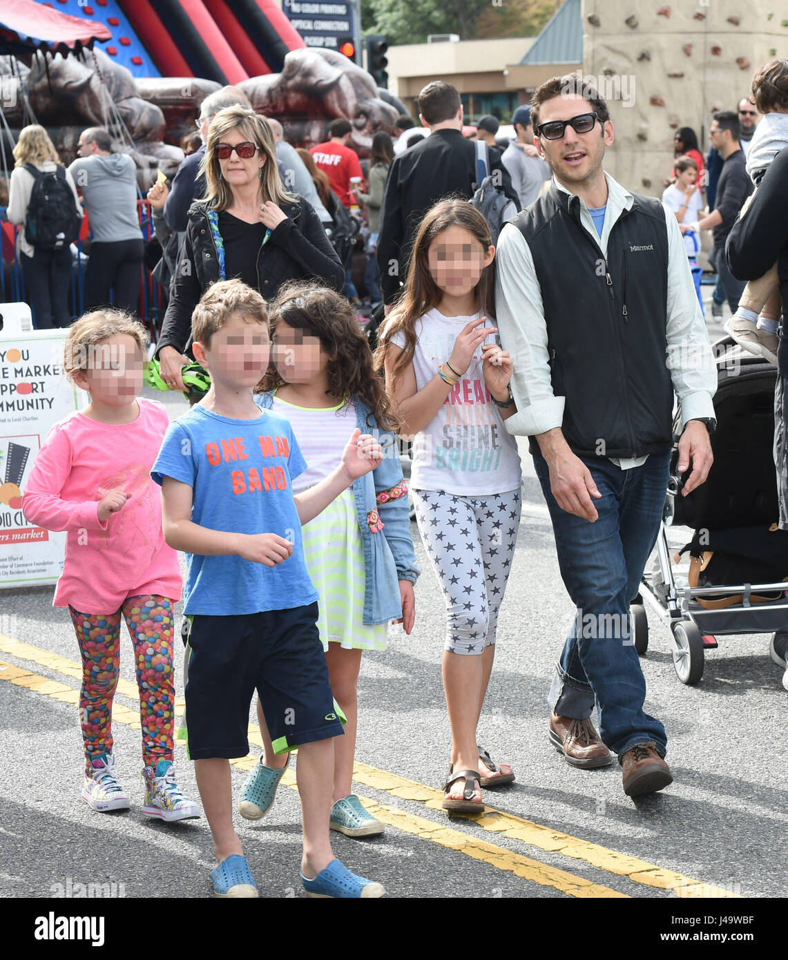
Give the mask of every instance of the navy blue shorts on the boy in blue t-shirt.
<svg viewBox="0 0 788 960">
<path fill-rule="evenodd" d="M 328 684 L 318 604 L 239 616 L 195 614 L 189 634 L 186 723 L 193 760 L 249 754 L 256 689 L 276 754 L 343 732 Z"/>
</svg>

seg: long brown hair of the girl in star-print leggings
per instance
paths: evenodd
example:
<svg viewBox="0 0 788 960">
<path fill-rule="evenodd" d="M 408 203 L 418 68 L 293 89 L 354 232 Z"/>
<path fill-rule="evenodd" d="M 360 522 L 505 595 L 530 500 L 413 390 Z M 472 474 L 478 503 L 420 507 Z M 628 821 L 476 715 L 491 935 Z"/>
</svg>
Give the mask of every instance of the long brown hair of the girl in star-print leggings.
<svg viewBox="0 0 788 960">
<path fill-rule="evenodd" d="M 435 204 L 421 221 L 414 241 L 405 293 L 394 306 L 390 317 L 379 334 L 378 348 L 374 354 L 375 370 L 382 370 L 386 350 L 394 333 L 405 335 L 405 347 L 394 364 L 394 373 L 403 371 L 413 361 L 416 350 L 416 322 L 419 317 L 438 306 L 443 292 L 430 274 L 428 253 L 430 245 L 443 230 L 462 227 L 482 245 L 484 252 L 492 244 L 490 227 L 484 216 L 465 199 L 449 197 Z M 476 284 L 476 309 L 489 318 L 495 313 L 495 261 L 485 267 Z"/>
</svg>

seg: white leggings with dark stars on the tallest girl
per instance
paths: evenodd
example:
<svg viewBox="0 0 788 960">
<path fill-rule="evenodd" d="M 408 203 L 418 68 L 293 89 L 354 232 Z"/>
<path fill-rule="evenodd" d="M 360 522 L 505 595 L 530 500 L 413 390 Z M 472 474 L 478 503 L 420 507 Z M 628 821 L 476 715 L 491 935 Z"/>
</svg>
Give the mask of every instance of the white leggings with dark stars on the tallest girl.
<svg viewBox="0 0 788 960">
<path fill-rule="evenodd" d="M 418 532 L 446 603 L 444 649 L 481 654 L 495 642 L 520 525 L 520 490 L 490 496 L 412 493 Z"/>
</svg>

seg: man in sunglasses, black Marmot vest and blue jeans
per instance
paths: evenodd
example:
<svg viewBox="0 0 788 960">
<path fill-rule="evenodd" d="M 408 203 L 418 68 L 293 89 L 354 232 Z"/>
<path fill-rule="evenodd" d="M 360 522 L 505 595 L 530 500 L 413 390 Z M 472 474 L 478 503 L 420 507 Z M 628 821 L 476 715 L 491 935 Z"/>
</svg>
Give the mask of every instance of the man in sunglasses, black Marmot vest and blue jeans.
<svg viewBox="0 0 788 960">
<path fill-rule="evenodd" d="M 531 117 L 553 182 L 501 230 L 495 302 L 514 368 L 506 426 L 531 437 L 577 607 L 548 733 L 573 766 L 617 754 L 624 792 L 639 796 L 672 777 L 664 727 L 643 711 L 629 608 L 662 516 L 674 394 L 690 492 L 711 466 L 717 377 L 676 217 L 603 168 L 614 135 L 605 101 L 581 77 L 555 77 Z"/>
</svg>

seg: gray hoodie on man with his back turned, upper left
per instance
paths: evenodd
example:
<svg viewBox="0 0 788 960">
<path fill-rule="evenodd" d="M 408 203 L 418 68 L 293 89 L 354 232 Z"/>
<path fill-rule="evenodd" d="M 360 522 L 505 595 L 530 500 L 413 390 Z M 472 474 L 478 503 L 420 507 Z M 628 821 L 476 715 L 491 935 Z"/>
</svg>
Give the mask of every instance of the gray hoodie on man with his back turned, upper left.
<svg viewBox="0 0 788 960">
<path fill-rule="evenodd" d="M 136 164 L 127 154 L 78 156 L 68 168 L 82 193 L 93 241 L 141 240 Z"/>
</svg>

